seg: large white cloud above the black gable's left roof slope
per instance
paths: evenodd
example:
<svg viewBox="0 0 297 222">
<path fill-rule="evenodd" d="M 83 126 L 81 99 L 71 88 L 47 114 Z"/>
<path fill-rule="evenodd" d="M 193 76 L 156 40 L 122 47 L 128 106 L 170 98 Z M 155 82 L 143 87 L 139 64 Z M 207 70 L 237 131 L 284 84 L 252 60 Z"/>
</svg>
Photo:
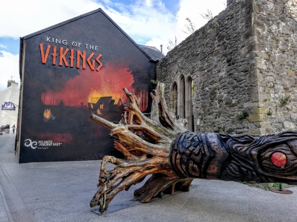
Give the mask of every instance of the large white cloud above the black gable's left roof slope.
<svg viewBox="0 0 297 222">
<path fill-rule="evenodd" d="M 91 0 L 1 2 L 0 36 L 19 38 L 100 7 Z M 8 10 L 11 9 L 11 10 Z M 13 11 L 13 16 L 12 16 Z"/>
</svg>

